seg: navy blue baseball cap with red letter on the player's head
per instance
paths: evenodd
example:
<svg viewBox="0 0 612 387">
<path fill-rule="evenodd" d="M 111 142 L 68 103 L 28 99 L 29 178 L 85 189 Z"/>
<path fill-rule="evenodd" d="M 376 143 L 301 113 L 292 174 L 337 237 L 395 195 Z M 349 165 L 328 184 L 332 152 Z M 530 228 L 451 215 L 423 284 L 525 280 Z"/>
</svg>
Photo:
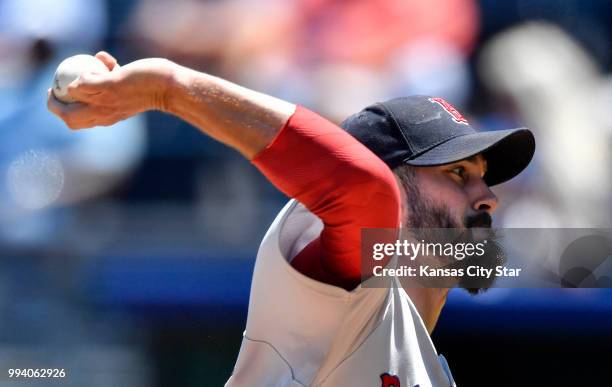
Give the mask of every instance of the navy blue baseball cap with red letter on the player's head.
<svg viewBox="0 0 612 387">
<path fill-rule="evenodd" d="M 340 126 L 391 169 L 402 164 L 443 165 L 482 154 L 489 186 L 518 175 L 535 152 L 529 129 L 477 132 L 457 109 L 437 97 L 416 95 L 375 103 Z"/>
</svg>

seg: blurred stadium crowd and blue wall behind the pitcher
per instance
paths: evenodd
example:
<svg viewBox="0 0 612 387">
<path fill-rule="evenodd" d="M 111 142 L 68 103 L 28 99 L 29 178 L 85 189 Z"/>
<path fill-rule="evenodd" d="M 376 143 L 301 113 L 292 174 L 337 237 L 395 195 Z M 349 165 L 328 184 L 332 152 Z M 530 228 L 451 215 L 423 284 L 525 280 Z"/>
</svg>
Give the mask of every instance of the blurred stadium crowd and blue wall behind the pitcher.
<svg viewBox="0 0 612 387">
<path fill-rule="evenodd" d="M 70 132 L 45 107 L 63 58 L 167 57 L 335 121 L 442 96 L 478 128 L 536 134 L 528 171 L 495 188 L 497 226 L 609 228 L 611 42 L 605 0 L 0 0 L 2 369 L 223 385 L 287 200 L 161 113 Z M 612 292 L 453 291 L 434 342 L 460 386 L 610 386 Z"/>
</svg>

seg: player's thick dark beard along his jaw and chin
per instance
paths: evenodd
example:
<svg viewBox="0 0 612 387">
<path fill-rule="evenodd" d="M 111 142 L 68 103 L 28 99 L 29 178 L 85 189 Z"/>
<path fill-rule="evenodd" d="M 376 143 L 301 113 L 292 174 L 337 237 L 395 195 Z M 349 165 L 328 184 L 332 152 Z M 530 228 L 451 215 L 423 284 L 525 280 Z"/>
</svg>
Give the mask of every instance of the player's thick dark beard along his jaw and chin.
<svg viewBox="0 0 612 387">
<path fill-rule="evenodd" d="M 400 181 L 407 194 L 408 212 L 404 219 L 404 227 L 411 230 L 416 240 L 440 243 L 479 243 L 486 240 L 482 256 L 472 255 L 458 260 L 448 257 L 443 267 L 462 268 L 478 265 L 487 269 L 504 265 L 506 254 L 499 243 L 498 233 L 491 228 L 492 218 L 486 211 L 466 214 L 462 222 L 453 218 L 446 205 L 436 205 L 425 198 L 417 188 L 416 176 L 410 167 L 403 167 L 399 174 Z M 442 230 L 446 229 L 446 230 Z M 450 229 L 450 230 L 449 230 Z M 483 293 L 493 286 L 495 276 L 491 278 L 461 276 L 457 286 L 470 294 Z"/>
</svg>

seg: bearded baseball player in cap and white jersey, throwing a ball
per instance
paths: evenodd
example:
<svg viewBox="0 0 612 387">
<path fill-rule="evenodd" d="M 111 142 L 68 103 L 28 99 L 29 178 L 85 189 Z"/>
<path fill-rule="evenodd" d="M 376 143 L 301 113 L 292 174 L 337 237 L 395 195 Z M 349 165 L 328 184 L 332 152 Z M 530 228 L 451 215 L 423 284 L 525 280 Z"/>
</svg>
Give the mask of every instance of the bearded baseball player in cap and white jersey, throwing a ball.
<svg viewBox="0 0 612 387">
<path fill-rule="evenodd" d="M 158 109 L 235 148 L 292 200 L 266 233 L 246 330 L 227 386 L 454 386 L 429 334 L 448 289 L 367 287 L 365 227 L 488 227 L 490 186 L 535 149 L 526 129 L 478 133 L 441 98 L 373 104 L 341 127 L 308 109 L 164 59 L 85 74 L 72 129 Z M 365 282 L 375 277 L 366 279 Z"/>
</svg>

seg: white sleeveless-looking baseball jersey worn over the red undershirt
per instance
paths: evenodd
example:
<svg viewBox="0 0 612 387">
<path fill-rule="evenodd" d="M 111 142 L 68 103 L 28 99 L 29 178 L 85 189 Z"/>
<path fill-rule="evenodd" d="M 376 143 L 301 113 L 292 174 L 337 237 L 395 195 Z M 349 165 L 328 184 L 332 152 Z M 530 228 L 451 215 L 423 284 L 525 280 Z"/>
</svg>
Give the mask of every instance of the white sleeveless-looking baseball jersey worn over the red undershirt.
<svg viewBox="0 0 612 387">
<path fill-rule="evenodd" d="M 295 200 L 270 226 L 257 254 L 247 326 L 226 387 L 455 386 L 400 286 L 362 284 L 349 292 L 293 269 L 290 260 L 322 227 Z M 368 281 L 375 280 L 380 278 Z"/>
</svg>

